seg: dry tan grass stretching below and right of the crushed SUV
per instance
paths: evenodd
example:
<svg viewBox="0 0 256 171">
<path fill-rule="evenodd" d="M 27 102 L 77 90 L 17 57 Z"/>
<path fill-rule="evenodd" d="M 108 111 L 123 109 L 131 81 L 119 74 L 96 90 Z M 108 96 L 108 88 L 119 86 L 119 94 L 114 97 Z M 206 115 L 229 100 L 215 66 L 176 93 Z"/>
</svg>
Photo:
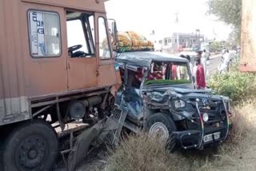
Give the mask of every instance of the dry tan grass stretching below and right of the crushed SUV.
<svg viewBox="0 0 256 171">
<path fill-rule="evenodd" d="M 218 153 L 179 150 L 167 153 L 165 145 L 146 134 L 130 136 L 114 151 L 110 171 L 158 170 L 256 170 L 256 100 L 234 107 L 233 128 Z"/>
</svg>

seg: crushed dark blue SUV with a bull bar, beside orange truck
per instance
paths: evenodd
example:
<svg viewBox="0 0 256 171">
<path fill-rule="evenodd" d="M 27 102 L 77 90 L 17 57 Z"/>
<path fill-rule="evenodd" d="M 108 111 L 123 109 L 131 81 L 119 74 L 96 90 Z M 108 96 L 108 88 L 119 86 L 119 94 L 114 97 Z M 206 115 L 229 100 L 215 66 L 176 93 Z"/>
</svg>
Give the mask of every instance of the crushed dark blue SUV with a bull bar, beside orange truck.
<svg viewBox="0 0 256 171">
<path fill-rule="evenodd" d="M 126 52 L 117 59 L 122 86 L 118 109 L 124 126 L 160 134 L 169 149 L 203 149 L 218 145 L 230 130 L 230 99 L 211 90 L 194 89 L 185 58 L 156 52 Z"/>
</svg>

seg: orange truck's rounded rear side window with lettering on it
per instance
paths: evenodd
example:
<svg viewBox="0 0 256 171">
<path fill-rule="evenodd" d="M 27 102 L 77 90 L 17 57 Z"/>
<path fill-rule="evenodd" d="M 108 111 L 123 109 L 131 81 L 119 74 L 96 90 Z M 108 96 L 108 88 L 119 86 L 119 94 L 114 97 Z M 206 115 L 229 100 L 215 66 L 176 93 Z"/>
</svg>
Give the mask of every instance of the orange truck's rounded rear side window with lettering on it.
<svg viewBox="0 0 256 171">
<path fill-rule="evenodd" d="M 58 57 L 61 54 L 59 16 L 57 13 L 28 12 L 30 54 L 34 58 Z"/>
</svg>

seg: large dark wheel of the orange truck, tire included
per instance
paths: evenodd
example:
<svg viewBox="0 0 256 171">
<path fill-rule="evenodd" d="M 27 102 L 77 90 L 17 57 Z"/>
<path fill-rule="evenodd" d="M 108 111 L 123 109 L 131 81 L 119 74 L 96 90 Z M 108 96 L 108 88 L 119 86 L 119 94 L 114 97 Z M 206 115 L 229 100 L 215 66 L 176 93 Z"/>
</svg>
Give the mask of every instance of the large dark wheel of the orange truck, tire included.
<svg viewBox="0 0 256 171">
<path fill-rule="evenodd" d="M 26 121 L 6 138 L 2 149 L 4 171 L 46 171 L 58 155 L 58 136 L 46 121 Z"/>
</svg>

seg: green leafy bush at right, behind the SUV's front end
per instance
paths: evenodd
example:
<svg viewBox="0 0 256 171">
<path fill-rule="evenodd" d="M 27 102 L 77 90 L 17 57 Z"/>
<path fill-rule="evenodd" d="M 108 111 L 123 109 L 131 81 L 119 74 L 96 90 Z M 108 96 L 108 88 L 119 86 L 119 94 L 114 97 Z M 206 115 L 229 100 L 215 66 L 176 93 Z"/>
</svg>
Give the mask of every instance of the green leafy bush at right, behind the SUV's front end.
<svg viewBox="0 0 256 171">
<path fill-rule="evenodd" d="M 210 78 L 209 86 L 219 94 L 230 97 L 234 102 L 254 97 L 256 93 L 254 74 L 241 73 L 233 70 L 226 74 L 215 74 Z"/>
</svg>

